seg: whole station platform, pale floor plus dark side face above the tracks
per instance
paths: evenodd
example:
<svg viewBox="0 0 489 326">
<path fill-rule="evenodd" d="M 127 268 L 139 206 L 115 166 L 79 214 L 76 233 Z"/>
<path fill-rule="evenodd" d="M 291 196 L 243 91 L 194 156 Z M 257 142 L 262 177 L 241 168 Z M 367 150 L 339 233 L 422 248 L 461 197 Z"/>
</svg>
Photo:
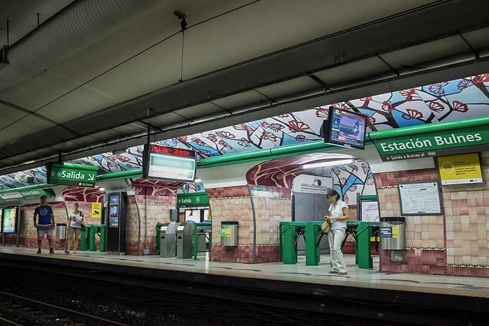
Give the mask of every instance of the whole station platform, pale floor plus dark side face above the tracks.
<svg viewBox="0 0 489 326">
<path fill-rule="evenodd" d="M 151 289 L 149 292 L 164 289 L 263 302 L 271 309 L 353 313 L 356 318 L 384 323 L 403 320 L 411 324 L 422 319 L 422 324 L 428 325 L 453 325 L 464 320 L 470 320 L 471 325 L 484 325 L 483 320 L 488 318 L 487 279 L 379 272 L 378 257 L 374 257 L 373 269 L 358 269 L 354 255 L 346 255 L 349 274 L 339 276 L 328 274 L 328 255 L 321 255 L 319 266 L 306 266 L 304 257 L 299 257 L 296 265 L 282 262 L 251 265 L 212 262 L 204 256 L 193 260 L 89 251 L 77 255 L 45 251 L 38 255 L 34 249 L 3 246 L 0 265 L 3 272 L 30 269 L 60 278 L 78 275 L 87 282 L 131 284 Z"/>
</svg>

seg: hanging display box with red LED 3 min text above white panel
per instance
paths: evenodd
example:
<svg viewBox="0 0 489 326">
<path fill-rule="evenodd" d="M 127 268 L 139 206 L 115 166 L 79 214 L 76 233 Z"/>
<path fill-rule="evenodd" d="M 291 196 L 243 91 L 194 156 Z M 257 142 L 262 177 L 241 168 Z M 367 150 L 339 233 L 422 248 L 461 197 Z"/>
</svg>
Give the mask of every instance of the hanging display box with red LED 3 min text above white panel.
<svg viewBox="0 0 489 326">
<path fill-rule="evenodd" d="M 159 145 L 145 145 L 143 177 L 170 181 L 194 181 L 195 151 Z"/>
</svg>

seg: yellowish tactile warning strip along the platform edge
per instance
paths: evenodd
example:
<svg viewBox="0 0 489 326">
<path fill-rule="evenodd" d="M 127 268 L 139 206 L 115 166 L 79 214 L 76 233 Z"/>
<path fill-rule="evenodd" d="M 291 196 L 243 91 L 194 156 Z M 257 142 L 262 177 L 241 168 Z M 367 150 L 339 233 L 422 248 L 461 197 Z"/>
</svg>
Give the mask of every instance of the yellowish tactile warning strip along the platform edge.
<svg viewBox="0 0 489 326">
<path fill-rule="evenodd" d="M 25 249 L 17 249 L 10 247 L 8 250 L 0 249 L 0 253 L 10 253 L 17 255 L 29 255 L 34 257 L 39 257 L 36 255 L 34 251 Z M 323 285 L 333 285 L 333 286 L 348 286 L 348 287 L 356 287 L 356 288 L 372 288 L 372 289 L 381 289 L 381 290 L 397 290 L 397 291 L 409 291 L 409 292 L 423 292 L 423 293 L 432 293 L 439 295 L 460 295 L 467 297 L 484 297 L 489 298 L 489 289 L 484 290 L 471 290 L 464 288 L 441 288 L 435 286 L 416 286 L 416 285 L 402 285 L 402 284 L 392 284 L 386 281 L 397 281 L 402 282 L 402 280 L 379 280 L 372 279 L 372 283 L 368 282 L 360 282 L 360 281 L 350 281 L 349 279 L 342 279 L 343 276 L 335 276 L 334 279 L 328 278 L 318 278 L 318 277 L 304 277 L 300 275 L 298 272 L 298 276 L 284 276 L 274 272 L 256 272 L 256 270 L 260 269 L 261 264 L 249 265 L 242 264 L 242 269 L 249 269 L 250 272 L 247 271 L 237 271 L 232 270 L 231 267 L 189 267 L 194 266 L 196 263 L 195 260 L 171 260 L 173 258 L 166 258 L 166 260 L 155 262 L 150 262 L 149 260 L 145 260 L 143 257 L 139 256 L 130 256 L 130 258 L 124 258 L 124 255 L 85 255 L 84 253 L 80 255 L 64 255 L 64 254 L 55 254 L 48 255 L 43 254 L 41 257 L 43 258 L 56 258 L 63 260 L 76 260 L 76 261 L 85 261 L 85 262 L 98 262 L 106 265 L 119 265 L 119 266 L 127 266 L 127 267 L 140 267 L 147 269 L 162 269 L 162 270 L 172 270 L 178 272 L 191 272 L 191 273 L 199 273 L 199 274 L 212 274 L 212 275 L 221 275 L 221 276 L 232 276 L 232 277 L 243 277 L 248 279 L 263 279 L 263 280 L 274 280 L 274 281 L 290 281 L 290 282 L 301 282 L 301 283 L 311 283 L 311 284 L 323 284 Z M 139 259 L 138 259 L 139 258 Z M 157 260 L 157 257 L 152 258 L 153 260 Z M 164 259 L 164 258 L 163 258 Z M 168 260 L 169 259 L 169 260 Z M 202 259 L 202 258 L 201 258 Z M 183 261 L 183 263 L 182 263 Z M 207 266 L 207 263 L 200 262 L 201 264 Z M 187 266 L 189 265 L 189 266 Z M 302 270 L 301 270 L 302 272 Z M 294 274 L 294 273 L 291 273 Z"/>
</svg>

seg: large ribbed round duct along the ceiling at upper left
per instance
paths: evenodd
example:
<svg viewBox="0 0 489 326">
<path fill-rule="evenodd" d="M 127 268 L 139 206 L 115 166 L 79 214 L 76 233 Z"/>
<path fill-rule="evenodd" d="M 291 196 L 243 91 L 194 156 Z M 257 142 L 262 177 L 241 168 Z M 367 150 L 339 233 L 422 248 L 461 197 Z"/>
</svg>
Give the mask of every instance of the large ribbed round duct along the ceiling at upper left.
<svg viewBox="0 0 489 326">
<path fill-rule="evenodd" d="M 74 1 L 8 47 L 8 65 L 0 69 L 0 91 L 38 75 L 171 2 L 173 0 Z"/>
</svg>

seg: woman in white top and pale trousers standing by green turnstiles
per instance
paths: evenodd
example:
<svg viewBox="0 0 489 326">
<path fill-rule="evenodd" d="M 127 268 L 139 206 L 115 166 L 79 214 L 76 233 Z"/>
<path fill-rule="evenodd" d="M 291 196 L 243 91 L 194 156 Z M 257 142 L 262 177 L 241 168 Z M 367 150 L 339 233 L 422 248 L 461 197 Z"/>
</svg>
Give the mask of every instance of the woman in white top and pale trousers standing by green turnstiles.
<svg viewBox="0 0 489 326">
<path fill-rule="evenodd" d="M 346 232 L 346 220 L 349 218 L 348 205 L 340 199 L 340 194 L 335 190 L 328 191 L 326 195 L 331 202 L 328 209 L 329 215 L 325 216 L 326 221 L 331 223 L 328 231 L 328 242 L 330 244 L 332 274 L 346 275 L 346 265 L 342 253 L 342 242 Z"/>
</svg>

